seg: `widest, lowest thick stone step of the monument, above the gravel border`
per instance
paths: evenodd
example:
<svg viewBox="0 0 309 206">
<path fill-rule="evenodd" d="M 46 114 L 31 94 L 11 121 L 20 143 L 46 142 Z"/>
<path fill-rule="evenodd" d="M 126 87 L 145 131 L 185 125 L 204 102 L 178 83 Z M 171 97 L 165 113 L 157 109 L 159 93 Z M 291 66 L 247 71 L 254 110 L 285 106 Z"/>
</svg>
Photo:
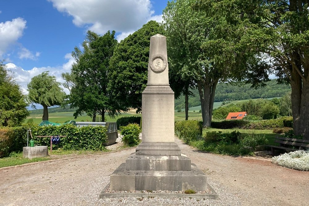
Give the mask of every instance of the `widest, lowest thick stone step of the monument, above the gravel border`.
<svg viewBox="0 0 309 206">
<path fill-rule="evenodd" d="M 206 191 L 206 175 L 192 166 L 191 171 L 126 170 L 122 163 L 111 174 L 111 190 Z"/>
</svg>

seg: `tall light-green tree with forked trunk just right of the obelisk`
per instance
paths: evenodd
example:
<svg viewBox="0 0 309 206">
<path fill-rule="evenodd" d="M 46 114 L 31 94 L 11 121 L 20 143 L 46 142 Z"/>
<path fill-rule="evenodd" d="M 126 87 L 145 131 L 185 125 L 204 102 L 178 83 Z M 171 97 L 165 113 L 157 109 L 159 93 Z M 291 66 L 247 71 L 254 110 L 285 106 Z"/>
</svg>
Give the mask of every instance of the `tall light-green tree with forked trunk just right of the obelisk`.
<svg viewBox="0 0 309 206">
<path fill-rule="evenodd" d="M 228 23 L 212 4 L 207 12 L 197 11 L 195 4 L 195 0 L 168 2 L 163 19 L 172 61 L 178 62 L 180 73 L 196 83 L 203 126 L 209 127 L 218 82 L 246 78 L 258 86 L 268 80 L 261 69 L 267 65 L 243 44 L 244 23 Z"/>
</svg>

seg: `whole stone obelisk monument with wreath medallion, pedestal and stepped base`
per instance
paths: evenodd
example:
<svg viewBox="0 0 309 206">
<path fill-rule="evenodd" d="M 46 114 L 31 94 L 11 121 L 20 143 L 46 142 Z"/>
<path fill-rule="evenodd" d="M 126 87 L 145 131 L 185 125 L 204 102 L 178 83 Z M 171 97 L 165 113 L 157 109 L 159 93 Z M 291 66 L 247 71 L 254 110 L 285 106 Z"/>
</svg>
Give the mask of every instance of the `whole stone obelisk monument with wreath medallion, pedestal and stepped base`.
<svg viewBox="0 0 309 206">
<path fill-rule="evenodd" d="M 148 83 L 142 93 L 142 143 L 111 175 L 111 190 L 205 191 L 205 174 L 175 143 L 174 92 L 168 82 L 166 37 L 151 36 Z"/>
</svg>

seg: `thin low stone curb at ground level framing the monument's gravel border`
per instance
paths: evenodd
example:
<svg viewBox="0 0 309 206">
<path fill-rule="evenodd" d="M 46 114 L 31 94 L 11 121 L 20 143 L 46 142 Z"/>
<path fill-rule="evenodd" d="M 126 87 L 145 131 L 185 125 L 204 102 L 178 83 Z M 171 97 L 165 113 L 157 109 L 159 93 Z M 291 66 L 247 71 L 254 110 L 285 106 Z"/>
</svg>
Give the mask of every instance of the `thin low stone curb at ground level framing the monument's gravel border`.
<svg viewBox="0 0 309 206">
<path fill-rule="evenodd" d="M 164 192 L 117 192 L 110 193 L 105 192 L 107 188 L 110 186 L 110 183 L 101 191 L 99 194 L 99 198 L 119 198 L 119 197 L 165 197 L 165 198 L 205 198 L 205 199 L 214 199 L 218 200 L 219 195 L 217 192 L 207 184 L 207 187 L 212 191 L 212 194 L 204 193 L 204 194 L 183 194 L 183 193 L 164 193 Z"/>
</svg>

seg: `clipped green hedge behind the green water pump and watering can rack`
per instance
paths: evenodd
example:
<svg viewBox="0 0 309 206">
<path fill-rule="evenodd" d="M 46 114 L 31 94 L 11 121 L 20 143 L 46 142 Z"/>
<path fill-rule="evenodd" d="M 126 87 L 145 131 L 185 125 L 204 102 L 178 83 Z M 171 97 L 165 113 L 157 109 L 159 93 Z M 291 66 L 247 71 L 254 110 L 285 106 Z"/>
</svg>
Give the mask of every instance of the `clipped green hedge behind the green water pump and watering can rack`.
<svg viewBox="0 0 309 206">
<path fill-rule="evenodd" d="M 20 152 L 27 146 L 27 130 L 32 130 L 36 145 L 50 145 L 50 137 L 36 136 L 66 136 L 60 138 L 59 145 L 54 149 L 64 150 L 104 150 L 102 143 L 107 140 L 107 129 L 102 126 L 76 127 L 72 124 L 60 126 L 36 126 L 24 124 L 19 127 L 0 128 L 0 157 L 8 156 L 11 152 Z M 29 133 L 29 141 L 31 136 Z"/>
</svg>

